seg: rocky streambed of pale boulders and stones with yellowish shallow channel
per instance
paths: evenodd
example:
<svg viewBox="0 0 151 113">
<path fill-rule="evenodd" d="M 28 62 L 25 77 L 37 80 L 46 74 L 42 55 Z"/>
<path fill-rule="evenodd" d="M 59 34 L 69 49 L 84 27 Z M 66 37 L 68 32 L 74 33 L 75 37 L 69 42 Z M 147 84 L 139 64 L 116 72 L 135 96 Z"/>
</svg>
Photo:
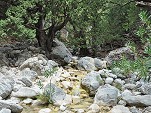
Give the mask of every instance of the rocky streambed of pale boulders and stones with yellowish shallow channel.
<svg viewBox="0 0 151 113">
<path fill-rule="evenodd" d="M 20 65 L 10 67 L 14 63 L 8 58 L 0 67 L 0 113 L 151 113 L 151 82 L 138 73 L 124 76 L 120 68 L 109 68 L 123 54 L 135 59 L 129 48 L 103 59 L 68 52 L 61 54 L 66 66 L 42 54 L 23 59 L 23 52 L 16 59 Z M 6 56 L 0 60 L 5 62 Z"/>
</svg>

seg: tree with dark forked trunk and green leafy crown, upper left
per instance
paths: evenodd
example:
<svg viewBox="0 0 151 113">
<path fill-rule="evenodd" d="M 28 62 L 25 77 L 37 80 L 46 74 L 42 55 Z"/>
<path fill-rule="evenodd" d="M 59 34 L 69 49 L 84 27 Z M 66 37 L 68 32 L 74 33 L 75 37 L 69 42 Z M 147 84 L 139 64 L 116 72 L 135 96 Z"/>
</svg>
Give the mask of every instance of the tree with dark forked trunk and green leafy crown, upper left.
<svg viewBox="0 0 151 113">
<path fill-rule="evenodd" d="M 5 33 L 18 37 L 36 37 L 39 46 L 50 56 L 53 39 L 69 21 L 73 7 L 80 0 L 20 0 L 7 10 L 2 25 Z M 5 25 L 4 25 L 5 24 Z"/>
</svg>

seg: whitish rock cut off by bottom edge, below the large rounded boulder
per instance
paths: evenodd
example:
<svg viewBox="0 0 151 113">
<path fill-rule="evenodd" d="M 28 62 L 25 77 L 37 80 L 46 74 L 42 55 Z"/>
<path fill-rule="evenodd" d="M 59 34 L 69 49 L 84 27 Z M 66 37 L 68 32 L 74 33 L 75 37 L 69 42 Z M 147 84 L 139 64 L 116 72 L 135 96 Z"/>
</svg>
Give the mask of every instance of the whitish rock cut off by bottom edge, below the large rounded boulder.
<svg viewBox="0 0 151 113">
<path fill-rule="evenodd" d="M 116 105 L 111 109 L 110 113 L 132 113 L 132 112 L 130 112 L 128 107 L 125 107 L 123 105 Z"/>
</svg>

